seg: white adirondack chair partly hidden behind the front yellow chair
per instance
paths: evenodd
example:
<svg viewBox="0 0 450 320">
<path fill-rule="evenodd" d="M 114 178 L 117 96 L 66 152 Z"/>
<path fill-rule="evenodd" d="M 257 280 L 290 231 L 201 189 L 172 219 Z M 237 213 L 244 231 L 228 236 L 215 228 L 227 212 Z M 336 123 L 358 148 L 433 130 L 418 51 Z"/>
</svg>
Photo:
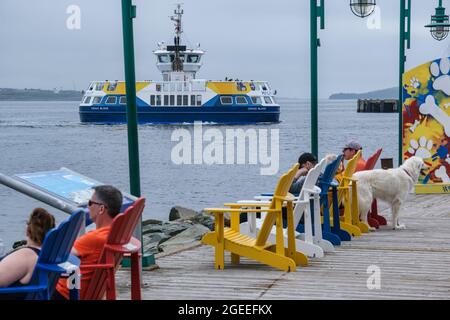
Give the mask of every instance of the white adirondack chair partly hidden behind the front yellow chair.
<svg viewBox="0 0 450 320">
<path fill-rule="evenodd" d="M 320 172 L 326 165 L 326 160 L 322 159 L 313 169 L 311 169 L 306 175 L 305 182 L 300 192 L 299 197 L 296 199 L 294 208 L 294 226 L 297 226 L 304 216 L 305 233 L 300 234 L 296 232 L 302 239 L 296 240 L 296 248 L 305 253 L 308 257 L 321 258 L 325 252 L 334 251 L 334 247 L 331 242 L 322 238 L 322 225 L 320 217 L 320 188 L 316 186 Z M 259 207 L 270 204 L 271 197 L 258 196 L 255 197 L 258 200 L 242 200 L 239 203 L 249 204 L 248 208 Z M 312 229 L 312 219 L 310 210 L 310 200 L 314 201 L 314 235 Z M 250 206 L 253 205 L 254 206 Z M 258 206 L 259 205 L 259 206 Z M 262 213 L 264 214 L 264 213 Z M 256 213 L 248 214 L 248 221 L 240 224 L 241 233 L 245 233 L 250 236 L 255 236 L 261 228 L 263 219 L 257 219 Z M 269 241 L 275 241 L 275 228 L 272 229 L 272 233 L 269 236 Z M 287 237 L 285 237 L 287 245 Z"/>
</svg>

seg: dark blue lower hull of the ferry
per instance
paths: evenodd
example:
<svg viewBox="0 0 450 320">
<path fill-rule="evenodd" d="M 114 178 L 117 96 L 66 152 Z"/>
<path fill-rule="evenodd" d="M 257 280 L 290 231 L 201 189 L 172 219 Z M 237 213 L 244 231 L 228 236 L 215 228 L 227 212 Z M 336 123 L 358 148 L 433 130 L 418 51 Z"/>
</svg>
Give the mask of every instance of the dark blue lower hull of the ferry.
<svg viewBox="0 0 450 320">
<path fill-rule="evenodd" d="M 195 121 L 223 124 L 277 123 L 279 106 L 264 107 L 138 107 L 138 123 L 180 124 Z M 126 109 L 80 107 L 80 121 L 97 124 L 126 123 Z"/>
</svg>

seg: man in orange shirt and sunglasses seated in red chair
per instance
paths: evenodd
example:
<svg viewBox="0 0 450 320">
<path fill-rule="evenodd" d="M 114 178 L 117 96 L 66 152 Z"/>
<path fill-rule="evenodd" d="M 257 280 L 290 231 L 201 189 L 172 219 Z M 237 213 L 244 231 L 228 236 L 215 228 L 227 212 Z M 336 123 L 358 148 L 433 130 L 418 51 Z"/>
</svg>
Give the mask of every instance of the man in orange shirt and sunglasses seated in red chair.
<svg viewBox="0 0 450 320">
<path fill-rule="evenodd" d="M 96 229 L 82 235 L 75 241 L 71 254 L 80 258 L 81 265 L 97 263 L 108 238 L 111 224 L 122 207 L 122 193 L 113 186 L 94 187 L 94 193 L 88 202 L 89 217 L 95 223 Z M 94 271 L 81 271 L 81 292 L 83 299 Z M 66 279 L 61 278 L 56 285 L 54 299 L 69 299 L 69 289 Z"/>
</svg>

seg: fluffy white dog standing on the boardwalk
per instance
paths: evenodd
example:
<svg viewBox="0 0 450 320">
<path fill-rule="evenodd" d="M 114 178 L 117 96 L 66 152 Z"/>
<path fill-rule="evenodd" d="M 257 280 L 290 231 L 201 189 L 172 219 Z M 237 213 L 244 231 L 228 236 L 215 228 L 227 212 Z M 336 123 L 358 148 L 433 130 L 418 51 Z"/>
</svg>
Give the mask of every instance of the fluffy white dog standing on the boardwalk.
<svg viewBox="0 0 450 320">
<path fill-rule="evenodd" d="M 391 206 L 392 226 L 405 229 L 399 224 L 398 215 L 406 197 L 425 168 L 419 157 L 407 159 L 399 168 L 360 171 L 353 175 L 358 180 L 358 204 L 361 221 L 367 222 L 367 214 L 373 199 L 387 202 Z"/>
</svg>

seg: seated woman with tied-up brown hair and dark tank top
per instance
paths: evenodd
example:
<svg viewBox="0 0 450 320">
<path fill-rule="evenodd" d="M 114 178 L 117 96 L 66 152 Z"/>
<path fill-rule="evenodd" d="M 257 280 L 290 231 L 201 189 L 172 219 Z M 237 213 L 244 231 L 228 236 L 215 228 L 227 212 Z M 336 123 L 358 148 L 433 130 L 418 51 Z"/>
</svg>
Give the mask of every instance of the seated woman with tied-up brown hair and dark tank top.
<svg viewBox="0 0 450 320">
<path fill-rule="evenodd" d="M 30 282 L 45 235 L 54 227 L 55 218 L 47 210 L 33 210 L 27 222 L 26 246 L 0 258 L 0 288 L 20 287 Z M 0 295 L 0 300 L 24 298 L 25 294 Z"/>
</svg>

